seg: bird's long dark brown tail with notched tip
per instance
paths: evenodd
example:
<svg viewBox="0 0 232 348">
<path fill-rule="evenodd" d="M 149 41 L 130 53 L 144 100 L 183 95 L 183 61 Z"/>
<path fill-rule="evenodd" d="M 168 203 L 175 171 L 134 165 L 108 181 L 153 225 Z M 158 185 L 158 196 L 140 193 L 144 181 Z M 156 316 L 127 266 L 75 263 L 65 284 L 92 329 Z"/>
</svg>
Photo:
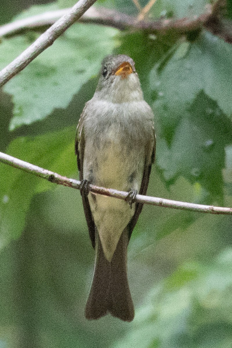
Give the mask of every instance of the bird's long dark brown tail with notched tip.
<svg viewBox="0 0 232 348">
<path fill-rule="evenodd" d="M 98 233 L 96 234 L 94 276 L 85 316 L 90 320 L 110 313 L 114 317 L 131 322 L 135 311 L 127 279 L 127 230 L 123 231 L 111 262 L 105 258 Z"/>
</svg>

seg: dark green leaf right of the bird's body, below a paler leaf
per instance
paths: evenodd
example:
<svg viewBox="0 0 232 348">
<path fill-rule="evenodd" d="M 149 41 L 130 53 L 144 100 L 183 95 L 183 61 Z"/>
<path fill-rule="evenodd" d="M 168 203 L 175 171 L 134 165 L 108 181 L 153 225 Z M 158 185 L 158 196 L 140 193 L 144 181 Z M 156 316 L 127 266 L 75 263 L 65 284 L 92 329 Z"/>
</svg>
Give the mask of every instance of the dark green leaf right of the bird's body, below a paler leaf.
<svg viewBox="0 0 232 348">
<path fill-rule="evenodd" d="M 198 182 L 219 203 L 224 148 L 232 142 L 231 121 L 203 91 L 179 118 L 170 147 L 164 139 L 158 143 L 157 161 L 162 175 L 167 181 L 182 175 L 192 183 Z"/>
</svg>

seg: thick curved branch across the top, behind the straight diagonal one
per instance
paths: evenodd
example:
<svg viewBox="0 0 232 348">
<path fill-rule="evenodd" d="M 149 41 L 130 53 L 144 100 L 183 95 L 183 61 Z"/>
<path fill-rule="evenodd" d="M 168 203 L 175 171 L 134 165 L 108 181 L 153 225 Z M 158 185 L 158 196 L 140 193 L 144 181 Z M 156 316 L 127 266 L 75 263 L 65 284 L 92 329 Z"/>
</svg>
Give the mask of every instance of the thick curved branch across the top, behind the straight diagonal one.
<svg viewBox="0 0 232 348">
<path fill-rule="evenodd" d="M 184 35 L 190 31 L 198 31 L 205 27 L 208 31 L 218 35 L 226 42 L 232 43 L 231 23 L 223 22 L 221 13 L 225 5 L 224 0 L 219 0 L 212 7 L 206 6 L 205 13 L 193 18 L 160 18 L 157 21 L 141 20 L 143 12 L 136 18 L 120 13 L 116 10 L 109 10 L 104 7 L 91 7 L 78 19 L 81 23 L 93 23 L 111 26 L 119 30 L 144 30 L 150 34 L 166 34 L 168 31 Z M 143 9 L 142 9 L 143 10 Z M 144 9 L 145 11 L 146 9 Z M 55 23 L 61 16 L 67 14 L 70 9 L 49 11 L 37 16 L 25 18 L 0 27 L 0 37 L 16 34 L 25 29 L 46 27 Z"/>
</svg>

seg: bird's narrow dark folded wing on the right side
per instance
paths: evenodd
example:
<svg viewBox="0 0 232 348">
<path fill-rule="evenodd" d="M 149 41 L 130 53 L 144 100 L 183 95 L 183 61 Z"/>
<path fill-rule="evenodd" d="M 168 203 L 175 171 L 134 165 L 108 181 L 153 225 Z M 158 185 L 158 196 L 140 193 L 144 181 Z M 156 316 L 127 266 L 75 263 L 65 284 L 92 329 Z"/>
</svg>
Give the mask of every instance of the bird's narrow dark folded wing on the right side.
<svg viewBox="0 0 232 348">
<path fill-rule="evenodd" d="M 142 183 L 141 183 L 141 187 L 139 190 L 139 195 L 146 195 L 146 191 L 147 191 L 147 187 L 148 187 L 148 183 L 149 183 L 149 177 L 150 177 L 150 173 L 151 173 L 151 166 L 155 161 L 155 132 L 154 132 L 154 128 L 153 128 L 153 134 L 154 134 L 154 145 L 153 145 L 153 149 L 152 149 L 152 153 L 150 153 L 149 155 L 149 161 L 145 161 L 145 163 L 149 163 L 149 165 L 144 166 L 144 172 L 143 172 L 143 179 L 142 179 Z M 143 208 L 143 203 L 136 203 L 135 205 L 135 214 L 133 215 L 133 217 L 131 218 L 130 222 L 127 225 L 127 229 L 128 229 L 128 236 L 129 236 L 129 240 L 131 237 L 131 234 L 133 232 L 133 229 L 137 223 L 139 214 L 141 213 Z"/>
</svg>

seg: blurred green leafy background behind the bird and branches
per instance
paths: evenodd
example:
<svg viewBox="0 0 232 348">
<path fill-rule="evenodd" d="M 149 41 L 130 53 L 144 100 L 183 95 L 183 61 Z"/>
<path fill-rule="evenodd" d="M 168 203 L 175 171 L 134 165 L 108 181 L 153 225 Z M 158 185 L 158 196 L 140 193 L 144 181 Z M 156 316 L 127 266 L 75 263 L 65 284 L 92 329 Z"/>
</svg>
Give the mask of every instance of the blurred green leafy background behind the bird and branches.
<svg viewBox="0 0 232 348">
<path fill-rule="evenodd" d="M 74 4 L 46 2 L 1 0 L 0 24 Z M 206 5 L 157 0 L 149 17 L 193 17 Z M 96 6 L 138 14 L 130 0 Z M 41 32 L 2 38 L 0 68 Z M 134 59 L 154 110 L 148 194 L 232 206 L 232 46 L 205 30 L 74 24 L 0 91 L 0 151 L 78 178 L 75 129 L 110 53 Z M 84 317 L 94 251 L 79 191 L 0 164 L 0 216 L 1 348 L 232 346 L 231 216 L 144 206 L 128 248 L 131 323 Z"/>
</svg>

